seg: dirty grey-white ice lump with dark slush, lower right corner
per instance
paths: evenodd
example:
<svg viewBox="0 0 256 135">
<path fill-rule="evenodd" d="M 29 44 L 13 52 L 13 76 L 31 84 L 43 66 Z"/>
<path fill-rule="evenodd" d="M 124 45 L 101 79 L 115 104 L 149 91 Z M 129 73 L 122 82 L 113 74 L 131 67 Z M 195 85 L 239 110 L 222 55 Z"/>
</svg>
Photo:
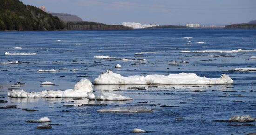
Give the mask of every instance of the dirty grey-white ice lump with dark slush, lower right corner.
<svg viewBox="0 0 256 135">
<path fill-rule="evenodd" d="M 251 117 L 250 115 L 234 115 L 229 118 L 229 120 L 214 120 L 216 122 L 240 122 L 240 123 L 246 123 L 246 122 L 254 122 L 255 119 Z"/>
</svg>

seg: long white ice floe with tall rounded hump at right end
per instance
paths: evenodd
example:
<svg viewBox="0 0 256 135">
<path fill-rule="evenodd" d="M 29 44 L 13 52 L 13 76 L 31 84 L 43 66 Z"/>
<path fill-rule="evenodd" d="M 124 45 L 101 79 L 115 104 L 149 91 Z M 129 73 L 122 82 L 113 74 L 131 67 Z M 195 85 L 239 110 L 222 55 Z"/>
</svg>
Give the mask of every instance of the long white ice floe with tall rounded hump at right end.
<svg viewBox="0 0 256 135">
<path fill-rule="evenodd" d="M 47 90 L 41 92 L 25 92 L 24 90 L 12 90 L 8 92 L 13 98 L 88 98 L 88 92 L 93 92 L 93 84 L 88 79 L 81 79 L 74 85 L 74 89 Z"/>
</svg>

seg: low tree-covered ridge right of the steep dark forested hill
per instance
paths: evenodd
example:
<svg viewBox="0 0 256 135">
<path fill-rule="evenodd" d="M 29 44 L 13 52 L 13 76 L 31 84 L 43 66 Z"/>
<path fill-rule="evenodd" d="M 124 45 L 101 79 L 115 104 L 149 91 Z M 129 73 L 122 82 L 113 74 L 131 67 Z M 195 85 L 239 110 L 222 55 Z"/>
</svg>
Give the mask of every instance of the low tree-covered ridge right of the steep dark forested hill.
<svg viewBox="0 0 256 135">
<path fill-rule="evenodd" d="M 126 27 L 123 25 L 106 25 L 96 22 L 67 22 L 67 30 L 131 30 L 131 27 Z"/>
</svg>

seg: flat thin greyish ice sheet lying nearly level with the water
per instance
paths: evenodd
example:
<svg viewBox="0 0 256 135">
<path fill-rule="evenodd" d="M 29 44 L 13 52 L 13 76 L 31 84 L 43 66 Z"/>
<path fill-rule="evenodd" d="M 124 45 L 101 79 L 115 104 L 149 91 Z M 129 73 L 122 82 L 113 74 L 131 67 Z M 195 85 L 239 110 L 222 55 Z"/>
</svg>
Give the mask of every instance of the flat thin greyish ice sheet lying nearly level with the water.
<svg viewBox="0 0 256 135">
<path fill-rule="evenodd" d="M 153 110 L 145 107 L 115 107 L 115 108 L 100 109 L 100 110 L 97 110 L 97 112 L 143 113 L 143 112 L 153 112 Z"/>
</svg>

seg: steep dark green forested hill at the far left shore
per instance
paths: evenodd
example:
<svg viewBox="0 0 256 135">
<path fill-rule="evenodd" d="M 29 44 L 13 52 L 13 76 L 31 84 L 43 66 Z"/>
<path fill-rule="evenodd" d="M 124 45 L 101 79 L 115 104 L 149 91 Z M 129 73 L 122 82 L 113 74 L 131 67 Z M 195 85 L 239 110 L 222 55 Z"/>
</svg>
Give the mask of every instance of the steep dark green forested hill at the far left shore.
<svg viewBox="0 0 256 135">
<path fill-rule="evenodd" d="M 58 30 L 64 24 L 51 14 L 19 0 L 0 0 L 0 30 Z"/>
</svg>

